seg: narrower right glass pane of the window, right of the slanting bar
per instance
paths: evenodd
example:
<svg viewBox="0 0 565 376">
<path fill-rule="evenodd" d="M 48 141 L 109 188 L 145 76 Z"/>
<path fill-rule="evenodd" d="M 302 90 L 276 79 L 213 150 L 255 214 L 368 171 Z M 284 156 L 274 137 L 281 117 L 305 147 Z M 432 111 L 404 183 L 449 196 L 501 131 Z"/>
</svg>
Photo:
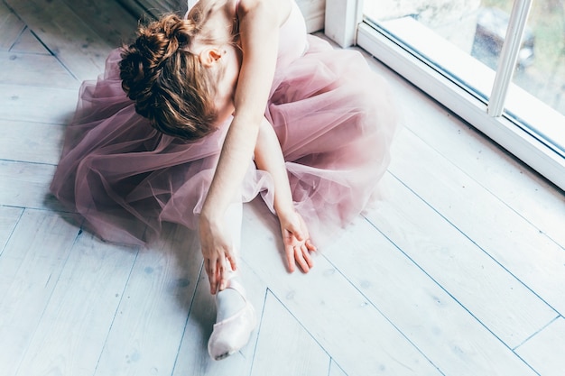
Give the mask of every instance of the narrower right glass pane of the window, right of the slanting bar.
<svg viewBox="0 0 565 376">
<path fill-rule="evenodd" d="M 484 2 L 503 9 L 506 3 Z M 565 1 L 533 1 L 514 84 L 506 113 L 565 156 Z"/>
</svg>

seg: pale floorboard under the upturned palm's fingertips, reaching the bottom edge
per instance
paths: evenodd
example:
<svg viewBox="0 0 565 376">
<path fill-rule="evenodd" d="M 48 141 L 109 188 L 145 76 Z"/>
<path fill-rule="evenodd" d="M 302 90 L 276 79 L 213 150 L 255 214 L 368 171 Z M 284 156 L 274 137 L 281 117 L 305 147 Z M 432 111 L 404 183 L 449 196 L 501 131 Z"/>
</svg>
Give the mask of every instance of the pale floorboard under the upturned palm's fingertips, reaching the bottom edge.
<svg viewBox="0 0 565 376">
<path fill-rule="evenodd" d="M 245 208 L 245 262 L 345 371 L 359 375 L 440 374 L 323 256 L 315 258 L 316 266 L 308 274 L 284 271 L 277 251 L 281 244 L 273 237 L 278 231 L 276 219 L 260 202 L 255 204 Z M 351 346 L 344 345 L 352 339 Z"/>
</svg>

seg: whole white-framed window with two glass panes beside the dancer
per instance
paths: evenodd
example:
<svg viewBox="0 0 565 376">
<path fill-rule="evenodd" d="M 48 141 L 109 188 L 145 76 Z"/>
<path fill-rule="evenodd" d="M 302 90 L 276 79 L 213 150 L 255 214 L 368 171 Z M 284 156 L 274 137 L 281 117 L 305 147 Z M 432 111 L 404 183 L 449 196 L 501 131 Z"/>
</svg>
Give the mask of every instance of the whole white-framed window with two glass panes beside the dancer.
<svg viewBox="0 0 565 376">
<path fill-rule="evenodd" d="M 565 189 L 565 2 L 327 0 L 357 44 Z"/>
</svg>

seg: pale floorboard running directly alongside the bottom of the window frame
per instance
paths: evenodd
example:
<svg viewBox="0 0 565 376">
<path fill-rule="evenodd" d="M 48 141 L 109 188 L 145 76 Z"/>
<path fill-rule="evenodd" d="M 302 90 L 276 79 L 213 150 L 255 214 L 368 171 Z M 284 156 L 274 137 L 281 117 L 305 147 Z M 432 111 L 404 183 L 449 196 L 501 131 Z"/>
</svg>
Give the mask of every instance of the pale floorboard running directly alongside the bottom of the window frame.
<svg viewBox="0 0 565 376">
<path fill-rule="evenodd" d="M 383 67 L 375 67 L 383 72 Z M 402 78 L 389 76 L 399 98 L 413 88 Z M 406 129 L 417 134 L 441 157 L 467 173 L 477 184 L 511 207 L 556 243 L 565 247 L 565 199 L 546 179 L 492 143 L 457 116 L 429 101 L 416 101 L 403 111 Z M 423 119 L 423 121 L 422 121 Z"/>
</svg>

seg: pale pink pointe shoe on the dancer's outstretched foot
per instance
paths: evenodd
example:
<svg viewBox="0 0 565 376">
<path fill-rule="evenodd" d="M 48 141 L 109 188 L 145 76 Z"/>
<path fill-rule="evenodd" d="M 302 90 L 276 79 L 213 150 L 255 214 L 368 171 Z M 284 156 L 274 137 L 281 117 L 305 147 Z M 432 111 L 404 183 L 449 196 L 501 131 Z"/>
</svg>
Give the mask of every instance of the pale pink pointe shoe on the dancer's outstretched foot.
<svg viewBox="0 0 565 376">
<path fill-rule="evenodd" d="M 228 280 L 227 289 L 235 289 L 244 298 L 245 307 L 214 325 L 208 340 L 208 353 L 215 361 L 241 350 L 249 342 L 257 321 L 255 309 L 245 298 L 243 287 L 236 280 Z"/>
</svg>

